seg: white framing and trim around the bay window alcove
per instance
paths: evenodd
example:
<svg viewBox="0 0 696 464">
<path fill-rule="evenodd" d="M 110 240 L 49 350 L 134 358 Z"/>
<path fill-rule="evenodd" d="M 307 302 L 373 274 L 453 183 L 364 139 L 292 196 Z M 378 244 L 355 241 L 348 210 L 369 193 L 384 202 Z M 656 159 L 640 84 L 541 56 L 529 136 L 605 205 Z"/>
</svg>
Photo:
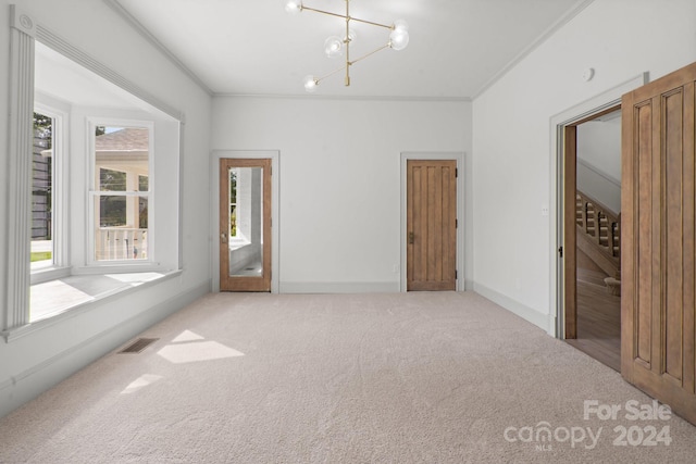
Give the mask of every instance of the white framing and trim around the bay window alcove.
<svg viewBox="0 0 696 464">
<path fill-rule="evenodd" d="M 30 5 L 10 4 L 10 34 L 9 34 L 9 99 L 8 99 L 8 165 L 10 174 L 5 177 L 8 208 L 3 211 L 8 227 L 0 230 L 4 247 L 0 247 L 0 286 L 5 289 L 2 301 L 3 310 L 0 311 L 0 336 L 9 343 L 23 338 L 37 330 L 50 327 L 66 317 L 94 309 L 100 301 L 121 291 L 128 291 L 135 285 L 124 285 L 123 288 L 92 296 L 94 299 L 85 304 L 73 304 L 49 318 L 37 322 L 30 321 L 29 293 L 35 279 L 51 281 L 63 276 L 79 276 L 84 274 L 105 275 L 120 273 L 159 273 L 151 285 L 163 278 L 181 275 L 183 272 L 183 234 L 182 222 L 183 192 L 181 172 L 184 168 L 183 130 L 186 124 L 185 114 L 176 108 L 160 100 L 152 92 L 145 90 L 128 78 L 122 76 L 99 60 L 74 47 L 70 41 L 52 33 L 41 22 L 32 17 Z M 62 202 L 63 230 L 61 268 L 37 273 L 30 272 L 30 204 L 32 204 L 32 155 L 33 113 L 36 110 L 35 99 L 40 99 L 40 90 L 36 88 L 35 52 L 40 43 L 60 53 L 63 58 L 72 60 L 87 72 L 104 79 L 108 86 L 116 92 L 124 93 L 126 99 L 135 98 L 134 110 L 145 111 L 149 118 L 152 115 L 161 133 L 158 140 L 165 160 L 160 160 L 163 178 L 171 181 L 162 185 L 165 200 L 164 205 L 159 205 L 157 221 L 161 224 L 158 229 L 169 230 L 159 239 L 160 247 L 165 258 L 163 263 L 127 263 L 114 266 L 87 266 L 85 251 L 85 221 L 88 209 L 85 204 L 87 196 L 85 171 L 89 168 L 87 148 L 85 146 L 86 124 L 83 114 L 76 114 L 75 105 L 71 100 L 60 100 L 67 108 L 70 120 L 63 121 L 63 171 L 60 176 L 65 179 L 64 198 Z M 52 95 L 52 93 L 51 93 Z M 53 98 L 49 98 L 49 105 Z M 102 106 L 109 114 L 109 106 Z M 136 110 L 137 109 L 137 110 Z M 95 110 L 95 108 L 91 108 Z M 129 116 L 128 116 L 129 117 Z M 159 125 L 162 124 L 162 129 Z M 70 139 L 69 139 L 70 135 Z M 70 143 L 69 143 L 70 140 Z M 69 162 L 70 159 L 70 162 Z M 170 161 L 171 160 L 171 161 Z M 153 158 L 150 162 L 154 163 Z M 70 170 L 67 168 L 70 164 Z M 157 163 L 156 163 L 157 164 Z M 149 185 L 149 190 L 154 187 Z M 162 189 L 161 187 L 161 189 Z M 150 197 L 154 201 L 153 196 Z M 69 208 L 70 206 L 70 208 Z M 162 214 L 164 213 L 164 214 Z M 148 218 L 150 222 L 150 218 Z M 153 224 L 154 221 L 151 221 Z M 70 244 L 69 244 L 70 243 Z M 134 265 L 135 264 L 135 265 Z M 89 281 L 89 277 L 87 280 Z M 149 285 L 149 284 L 146 284 Z M 141 288 L 141 287 L 140 287 Z"/>
</svg>

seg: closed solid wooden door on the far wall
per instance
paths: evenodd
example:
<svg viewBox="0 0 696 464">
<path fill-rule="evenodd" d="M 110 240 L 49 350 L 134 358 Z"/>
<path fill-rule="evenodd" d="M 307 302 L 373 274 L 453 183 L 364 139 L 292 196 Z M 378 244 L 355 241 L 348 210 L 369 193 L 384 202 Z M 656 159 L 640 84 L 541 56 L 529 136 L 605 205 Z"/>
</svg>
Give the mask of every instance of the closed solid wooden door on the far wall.
<svg viewBox="0 0 696 464">
<path fill-rule="evenodd" d="M 407 290 L 456 290 L 456 160 L 407 162 Z"/>
</svg>

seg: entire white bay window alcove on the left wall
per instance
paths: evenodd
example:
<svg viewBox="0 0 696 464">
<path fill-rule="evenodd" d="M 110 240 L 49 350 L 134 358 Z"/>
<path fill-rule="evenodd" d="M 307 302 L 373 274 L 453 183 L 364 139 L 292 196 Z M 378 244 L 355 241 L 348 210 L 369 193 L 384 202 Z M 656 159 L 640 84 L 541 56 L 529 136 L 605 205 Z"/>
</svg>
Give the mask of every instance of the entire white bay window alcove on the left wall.
<svg viewBox="0 0 696 464">
<path fill-rule="evenodd" d="M 8 289 L 0 314 L 7 341 L 46 327 L 42 319 L 80 305 L 85 311 L 107 296 L 181 269 L 184 118 L 41 25 L 24 21 L 25 13 L 11 9 L 11 14 L 13 171 L 7 183 L 12 208 L 5 254 L 12 272 L 0 283 Z M 50 47 L 35 40 L 38 30 Z M 132 138 L 113 140 L 124 135 Z M 157 196 L 154 165 L 157 178 L 164 179 Z"/>
</svg>

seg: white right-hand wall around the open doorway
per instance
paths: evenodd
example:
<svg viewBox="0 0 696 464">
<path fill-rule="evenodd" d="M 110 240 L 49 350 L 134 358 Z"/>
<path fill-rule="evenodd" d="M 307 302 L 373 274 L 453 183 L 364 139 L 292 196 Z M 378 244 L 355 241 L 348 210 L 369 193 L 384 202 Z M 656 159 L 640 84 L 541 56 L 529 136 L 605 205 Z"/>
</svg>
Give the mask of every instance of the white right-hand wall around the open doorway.
<svg viewBox="0 0 696 464">
<path fill-rule="evenodd" d="M 595 0 L 474 100 L 476 289 L 547 328 L 550 117 L 645 71 L 655 79 L 696 60 L 695 17 L 694 0 Z"/>
</svg>

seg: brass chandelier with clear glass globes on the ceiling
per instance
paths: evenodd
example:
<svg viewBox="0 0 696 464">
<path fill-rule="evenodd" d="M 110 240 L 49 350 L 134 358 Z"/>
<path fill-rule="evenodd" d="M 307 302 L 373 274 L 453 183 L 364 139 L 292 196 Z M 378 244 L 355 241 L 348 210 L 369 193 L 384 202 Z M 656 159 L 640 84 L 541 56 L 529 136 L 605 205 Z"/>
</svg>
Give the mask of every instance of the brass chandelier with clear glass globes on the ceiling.
<svg viewBox="0 0 696 464">
<path fill-rule="evenodd" d="M 332 13 L 328 11 L 316 10 L 314 8 L 307 7 L 302 3 L 302 0 L 287 0 L 285 3 L 285 11 L 288 13 L 301 13 L 302 11 L 313 11 L 315 13 L 325 14 L 328 16 L 341 17 L 346 21 L 346 30 L 343 34 L 343 37 L 339 36 L 331 36 L 324 42 L 324 52 L 328 58 L 339 58 L 345 55 L 346 61 L 345 64 L 331 73 L 316 77 L 313 75 L 308 75 L 304 77 L 304 90 L 308 92 L 313 92 L 316 90 L 316 86 L 324 80 L 325 78 L 333 76 L 336 73 L 341 71 L 346 71 L 345 85 L 350 86 L 350 66 L 358 63 L 359 61 L 364 60 L 368 57 L 375 54 L 378 51 L 390 48 L 391 50 L 403 50 L 406 46 L 409 45 L 409 26 L 406 21 L 398 20 L 395 21 L 394 24 L 380 24 L 374 23 L 372 21 L 360 20 L 358 17 L 353 17 L 350 15 L 350 0 L 346 1 L 346 14 Z M 351 22 L 369 24 L 371 26 L 383 27 L 385 29 L 390 30 L 388 41 L 382 47 L 366 53 L 360 58 L 350 59 L 350 42 L 356 39 L 356 33 L 350 28 Z"/>
</svg>

